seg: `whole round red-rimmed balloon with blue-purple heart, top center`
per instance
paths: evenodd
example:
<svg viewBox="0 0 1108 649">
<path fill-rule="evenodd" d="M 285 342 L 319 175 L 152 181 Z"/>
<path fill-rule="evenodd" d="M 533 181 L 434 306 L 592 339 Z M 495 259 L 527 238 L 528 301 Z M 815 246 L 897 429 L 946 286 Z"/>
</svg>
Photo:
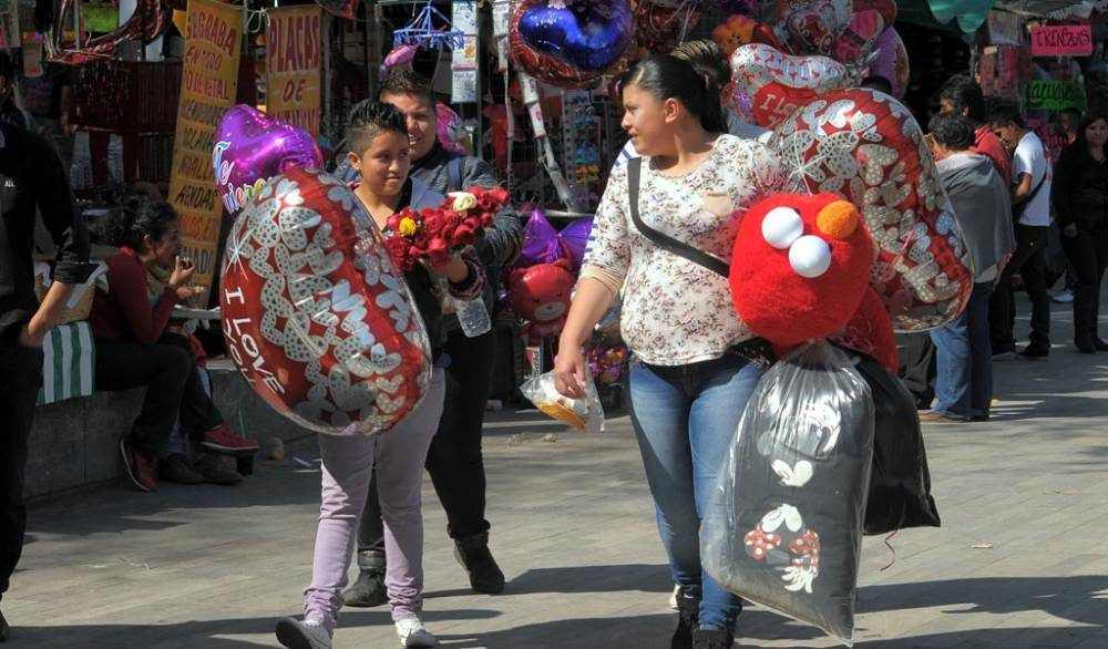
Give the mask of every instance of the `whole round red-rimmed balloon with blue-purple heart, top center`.
<svg viewBox="0 0 1108 649">
<path fill-rule="evenodd" d="M 512 59 L 558 87 L 585 87 L 608 71 L 633 37 L 628 0 L 523 0 L 512 19 Z"/>
</svg>

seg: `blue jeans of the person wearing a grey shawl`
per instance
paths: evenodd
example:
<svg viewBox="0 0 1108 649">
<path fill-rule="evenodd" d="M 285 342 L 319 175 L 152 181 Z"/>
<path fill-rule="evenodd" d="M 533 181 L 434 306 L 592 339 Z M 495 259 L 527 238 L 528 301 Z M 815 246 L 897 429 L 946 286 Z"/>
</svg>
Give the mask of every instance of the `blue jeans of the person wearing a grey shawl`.
<svg viewBox="0 0 1108 649">
<path fill-rule="evenodd" d="M 975 284 L 970 303 L 948 324 L 931 331 L 935 342 L 935 402 L 931 410 L 954 419 L 988 416 L 993 358 L 988 305 L 993 282 Z"/>
</svg>

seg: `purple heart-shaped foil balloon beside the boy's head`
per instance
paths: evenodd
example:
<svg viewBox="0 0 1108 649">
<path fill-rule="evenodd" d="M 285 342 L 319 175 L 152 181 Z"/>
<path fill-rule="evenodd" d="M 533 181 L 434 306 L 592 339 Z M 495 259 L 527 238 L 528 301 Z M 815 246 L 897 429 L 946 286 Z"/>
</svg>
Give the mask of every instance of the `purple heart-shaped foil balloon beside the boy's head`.
<svg viewBox="0 0 1108 649">
<path fill-rule="evenodd" d="M 234 217 L 269 178 L 293 167 L 320 169 L 324 156 L 302 128 L 239 104 L 219 122 L 212 166 L 223 205 Z"/>
</svg>

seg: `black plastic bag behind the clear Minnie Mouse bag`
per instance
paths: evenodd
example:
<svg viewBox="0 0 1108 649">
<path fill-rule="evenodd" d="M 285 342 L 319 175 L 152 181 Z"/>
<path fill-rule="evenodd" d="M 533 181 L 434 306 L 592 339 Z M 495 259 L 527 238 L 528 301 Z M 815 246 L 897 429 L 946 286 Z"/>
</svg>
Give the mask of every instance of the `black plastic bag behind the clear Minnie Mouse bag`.
<svg viewBox="0 0 1108 649">
<path fill-rule="evenodd" d="M 938 527 L 931 472 L 915 401 L 881 363 L 858 356 L 858 372 L 873 394 L 873 471 L 865 506 L 865 534 Z"/>
</svg>

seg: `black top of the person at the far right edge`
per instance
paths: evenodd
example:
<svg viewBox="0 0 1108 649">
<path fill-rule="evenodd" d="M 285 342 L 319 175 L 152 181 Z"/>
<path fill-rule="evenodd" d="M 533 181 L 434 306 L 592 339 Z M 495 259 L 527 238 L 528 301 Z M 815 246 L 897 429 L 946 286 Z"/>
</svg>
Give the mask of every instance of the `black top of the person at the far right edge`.
<svg viewBox="0 0 1108 649">
<path fill-rule="evenodd" d="M 1059 227 L 1077 224 L 1094 229 L 1108 225 L 1108 163 L 1089 155 L 1084 144 L 1070 144 L 1054 167 L 1050 200 Z"/>
</svg>

